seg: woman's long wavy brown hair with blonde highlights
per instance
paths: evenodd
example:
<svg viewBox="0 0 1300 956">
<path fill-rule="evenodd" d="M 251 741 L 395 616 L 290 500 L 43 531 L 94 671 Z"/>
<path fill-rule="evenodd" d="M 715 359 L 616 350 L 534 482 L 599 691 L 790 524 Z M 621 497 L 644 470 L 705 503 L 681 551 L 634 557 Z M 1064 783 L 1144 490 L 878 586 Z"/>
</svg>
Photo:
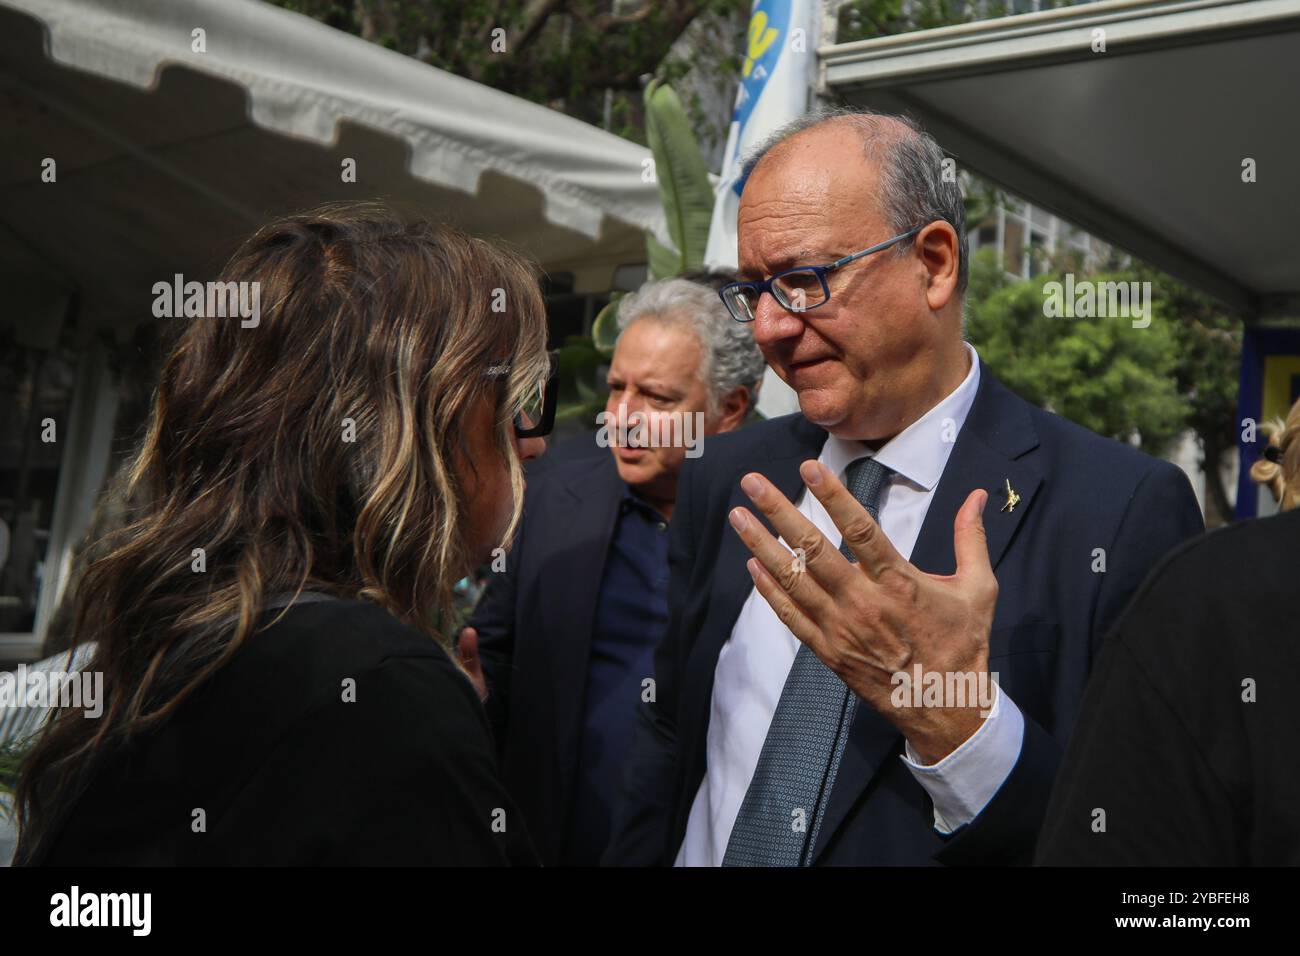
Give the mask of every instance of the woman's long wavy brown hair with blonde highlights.
<svg viewBox="0 0 1300 956">
<path fill-rule="evenodd" d="M 126 476 L 124 501 L 143 503 L 73 596 L 104 713 L 60 711 L 25 761 L 20 860 L 92 758 L 174 713 L 255 633 L 270 596 L 370 601 L 447 646 L 439 615 L 476 559 L 465 429 L 485 395 L 515 498 L 503 544 L 519 522 L 512 419 L 547 371 L 525 259 L 380 204 L 335 204 L 259 229 L 220 278 L 260 284 L 260 323 L 173 320 Z M 507 377 L 489 375 L 502 365 Z"/>
</svg>

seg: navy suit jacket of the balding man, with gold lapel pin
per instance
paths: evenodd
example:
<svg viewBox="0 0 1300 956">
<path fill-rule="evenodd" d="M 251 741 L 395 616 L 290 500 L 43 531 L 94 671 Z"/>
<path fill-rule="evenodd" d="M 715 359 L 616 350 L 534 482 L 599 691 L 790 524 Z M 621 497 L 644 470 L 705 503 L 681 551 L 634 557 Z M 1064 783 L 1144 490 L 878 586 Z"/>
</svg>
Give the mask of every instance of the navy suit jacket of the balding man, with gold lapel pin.
<svg viewBox="0 0 1300 956">
<path fill-rule="evenodd" d="M 655 701 L 638 711 L 606 862 L 676 857 L 705 775 L 718 656 L 753 587 L 749 550 L 727 514 L 749 505 L 740 490 L 749 471 L 797 499 L 798 466 L 820 454 L 826 437 L 802 415 L 789 415 L 711 437 L 702 457 L 686 463 L 672 519 L 670 620 L 655 657 Z M 1010 511 L 1000 510 L 1008 480 L 1020 496 Z M 859 706 L 815 864 L 1028 862 L 1106 630 L 1152 564 L 1204 529 L 1175 466 L 1030 405 L 983 364 L 911 554 L 916 567 L 956 570 L 953 519 L 976 488 L 989 493 L 984 527 L 1000 587 L 989 670 L 1024 714 L 1015 766 L 984 810 L 945 838 L 933 829 L 930 797 L 898 758 L 902 736 Z M 1102 558 L 1105 571 L 1095 571 Z"/>
</svg>

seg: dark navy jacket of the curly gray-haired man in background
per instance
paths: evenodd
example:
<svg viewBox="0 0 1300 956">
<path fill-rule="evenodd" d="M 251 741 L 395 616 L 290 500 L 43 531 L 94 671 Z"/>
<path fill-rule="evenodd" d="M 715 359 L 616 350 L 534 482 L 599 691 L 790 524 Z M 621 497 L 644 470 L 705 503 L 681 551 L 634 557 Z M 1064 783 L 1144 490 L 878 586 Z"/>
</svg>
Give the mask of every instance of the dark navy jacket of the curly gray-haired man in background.
<svg viewBox="0 0 1300 956">
<path fill-rule="evenodd" d="M 590 438 L 558 451 L 529 467 L 506 570 L 491 576 L 468 622 L 478 631 L 506 788 L 547 865 L 563 855 L 592 628 L 627 490 L 610 450 Z"/>
</svg>

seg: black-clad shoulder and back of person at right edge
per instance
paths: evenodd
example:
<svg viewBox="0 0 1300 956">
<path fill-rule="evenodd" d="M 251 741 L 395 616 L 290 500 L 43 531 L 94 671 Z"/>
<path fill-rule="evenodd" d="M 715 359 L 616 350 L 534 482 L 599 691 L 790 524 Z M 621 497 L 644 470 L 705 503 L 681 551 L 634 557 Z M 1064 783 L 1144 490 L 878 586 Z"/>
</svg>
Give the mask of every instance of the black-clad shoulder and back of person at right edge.
<svg viewBox="0 0 1300 956">
<path fill-rule="evenodd" d="M 1048 865 L 1300 864 L 1300 511 L 1174 550 L 1108 636 Z"/>
</svg>

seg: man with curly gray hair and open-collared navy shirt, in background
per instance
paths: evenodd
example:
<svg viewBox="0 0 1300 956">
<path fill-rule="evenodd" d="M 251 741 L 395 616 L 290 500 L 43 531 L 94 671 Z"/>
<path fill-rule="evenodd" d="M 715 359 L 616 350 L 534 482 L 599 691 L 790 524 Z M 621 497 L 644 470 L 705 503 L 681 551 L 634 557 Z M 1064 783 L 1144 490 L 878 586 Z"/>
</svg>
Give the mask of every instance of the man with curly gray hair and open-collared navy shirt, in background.
<svg viewBox="0 0 1300 956">
<path fill-rule="evenodd" d="M 677 473 L 706 434 L 745 420 L 763 375 L 707 285 L 650 282 L 621 300 L 619 325 L 607 447 L 578 438 L 529 468 L 515 546 L 460 641 L 471 656 L 477 644 L 506 784 L 549 865 L 604 851 L 668 618 Z"/>
</svg>

